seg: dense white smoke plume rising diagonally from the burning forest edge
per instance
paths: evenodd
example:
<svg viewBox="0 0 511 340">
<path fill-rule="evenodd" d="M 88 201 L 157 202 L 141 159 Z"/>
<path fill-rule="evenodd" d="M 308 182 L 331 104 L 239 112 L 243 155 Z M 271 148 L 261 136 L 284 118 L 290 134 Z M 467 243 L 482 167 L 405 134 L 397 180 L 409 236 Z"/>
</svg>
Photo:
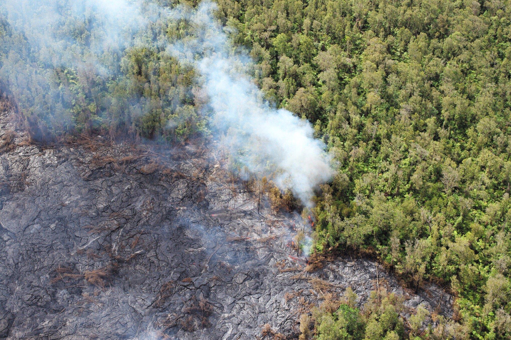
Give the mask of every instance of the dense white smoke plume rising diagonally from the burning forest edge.
<svg viewBox="0 0 511 340">
<path fill-rule="evenodd" d="M 332 176 L 326 145 L 314 138 L 310 122 L 264 101 L 247 75 L 250 58 L 231 52 L 224 28 L 213 19 L 214 10 L 215 4 L 203 1 L 196 10 L 176 11 L 192 23 L 194 37 L 168 50 L 200 71 L 214 122 L 235 158 L 310 205 L 314 189 Z"/>
</svg>

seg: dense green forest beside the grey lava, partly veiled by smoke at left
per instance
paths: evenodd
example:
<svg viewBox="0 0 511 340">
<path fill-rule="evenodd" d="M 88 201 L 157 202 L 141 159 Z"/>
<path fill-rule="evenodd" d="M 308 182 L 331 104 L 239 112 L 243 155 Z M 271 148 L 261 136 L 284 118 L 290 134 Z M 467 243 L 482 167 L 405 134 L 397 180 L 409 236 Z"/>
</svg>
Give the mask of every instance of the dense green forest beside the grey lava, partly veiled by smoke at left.
<svg viewBox="0 0 511 340">
<path fill-rule="evenodd" d="M 297 162 L 309 162 L 316 177 L 297 173 L 295 184 L 304 175 L 310 185 L 295 194 L 307 200 L 330 175 L 322 144 L 311 136 L 333 155 L 333 179 L 314 198 L 316 251 L 364 251 L 412 289 L 429 279 L 449 287 L 457 295 L 451 324 L 416 336 L 511 336 L 508 1 L 219 0 L 214 16 L 228 42 L 216 49 L 223 37 L 213 37 L 219 40 L 205 58 L 196 45 L 204 37 L 186 7 L 102 4 L 0 5 L 0 78 L 34 139 L 96 133 L 180 141 L 215 129 L 240 169 L 264 173 L 259 159 L 240 152 L 261 145 L 237 142 L 245 133 L 248 141 L 268 138 L 250 125 L 240 131 L 237 119 L 246 115 L 236 100 L 249 98 L 267 114 L 260 124 L 286 118 L 281 130 L 294 124 L 310 142 L 309 151 L 278 166 L 289 178 Z M 136 15 L 125 20 L 128 13 Z M 234 82 L 212 88 L 223 82 L 213 74 Z M 240 84 L 241 92 L 231 87 Z M 221 128 L 213 113 L 229 110 L 239 116 L 223 117 Z M 281 145 L 263 149 L 262 159 L 280 161 L 295 144 Z M 317 328 L 331 334 L 342 326 L 340 315 L 322 313 Z M 385 336 L 383 319 L 369 320 L 375 338 Z"/>
</svg>

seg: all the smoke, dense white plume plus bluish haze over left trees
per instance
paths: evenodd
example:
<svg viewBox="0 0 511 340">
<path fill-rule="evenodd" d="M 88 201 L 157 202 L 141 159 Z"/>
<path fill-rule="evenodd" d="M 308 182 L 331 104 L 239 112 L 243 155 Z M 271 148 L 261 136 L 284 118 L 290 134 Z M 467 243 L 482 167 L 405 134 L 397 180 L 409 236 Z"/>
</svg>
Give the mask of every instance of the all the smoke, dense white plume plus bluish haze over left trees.
<svg viewBox="0 0 511 340">
<path fill-rule="evenodd" d="M 246 74 L 250 58 L 229 51 L 216 9 L 7 2 L 5 30 L 23 39 L 3 46 L 26 50 L 6 53 L 5 86 L 35 139 L 94 132 L 176 140 L 209 129 L 223 136 L 239 170 L 266 175 L 310 205 L 332 175 L 326 145 L 308 121 L 264 100 Z M 182 29 L 170 34 L 177 23 Z"/>
</svg>

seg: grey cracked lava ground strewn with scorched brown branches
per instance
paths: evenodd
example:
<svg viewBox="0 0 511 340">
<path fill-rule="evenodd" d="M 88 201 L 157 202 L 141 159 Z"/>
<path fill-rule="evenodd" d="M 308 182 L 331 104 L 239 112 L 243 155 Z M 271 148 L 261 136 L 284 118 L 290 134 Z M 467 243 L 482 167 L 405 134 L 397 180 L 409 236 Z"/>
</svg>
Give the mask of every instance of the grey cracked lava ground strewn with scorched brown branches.
<svg viewBox="0 0 511 340">
<path fill-rule="evenodd" d="M 297 337 L 300 313 L 346 287 L 403 294 L 452 315 L 429 285 L 411 294 L 363 258 L 306 271 L 293 218 L 228 182 L 212 151 L 49 147 L 0 113 L 0 338 Z M 309 267 L 310 269 L 310 267 Z"/>
</svg>

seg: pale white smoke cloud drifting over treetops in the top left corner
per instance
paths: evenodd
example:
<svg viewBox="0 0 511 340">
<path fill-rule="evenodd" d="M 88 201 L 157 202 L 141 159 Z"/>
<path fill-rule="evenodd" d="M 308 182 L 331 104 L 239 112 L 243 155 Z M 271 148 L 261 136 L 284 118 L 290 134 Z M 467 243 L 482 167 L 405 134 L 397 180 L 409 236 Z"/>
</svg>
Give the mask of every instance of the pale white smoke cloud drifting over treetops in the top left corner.
<svg viewBox="0 0 511 340">
<path fill-rule="evenodd" d="M 31 49 L 37 50 L 39 62 L 74 68 L 88 64 L 102 75 L 114 72 L 113 65 L 101 59 L 102 54 L 122 54 L 130 46 L 143 44 L 137 41 L 140 38 L 136 33 L 163 10 L 141 4 L 126 0 L 4 0 L 0 17 L 27 39 Z M 62 29 L 66 24 L 71 31 Z M 96 29 L 94 33 L 87 32 L 92 28 Z M 88 37 L 90 46 L 79 47 L 76 39 L 86 39 L 89 34 L 93 34 Z"/>
</svg>

